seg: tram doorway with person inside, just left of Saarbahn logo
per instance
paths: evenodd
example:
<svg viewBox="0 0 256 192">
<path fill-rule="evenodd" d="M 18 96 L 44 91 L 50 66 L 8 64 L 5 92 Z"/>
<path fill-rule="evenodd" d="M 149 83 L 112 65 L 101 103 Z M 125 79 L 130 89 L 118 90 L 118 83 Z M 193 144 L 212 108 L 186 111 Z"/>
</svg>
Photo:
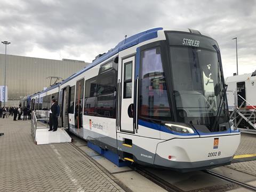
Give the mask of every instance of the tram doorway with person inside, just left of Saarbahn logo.
<svg viewBox="0 0 256 192">
<path fill-rule="evenodd" d="M 76 128 L 83 127 L 82 108 L 84 99 L 84 79 L 76 82 L 76 106 L 75 106 L 75 126 Z"/>
</svg>

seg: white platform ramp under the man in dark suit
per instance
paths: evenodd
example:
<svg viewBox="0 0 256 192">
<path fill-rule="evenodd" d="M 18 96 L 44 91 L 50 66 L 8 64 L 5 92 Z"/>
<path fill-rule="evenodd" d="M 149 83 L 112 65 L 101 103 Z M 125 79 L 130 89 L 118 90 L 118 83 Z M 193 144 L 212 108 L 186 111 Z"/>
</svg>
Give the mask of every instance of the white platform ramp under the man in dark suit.
<svg viewBox="0 0 256 192">
<path fill-rule="evenodd" d="M 71 142 L 71 137 L 63 128 L 57 131 L 48 131 L 48 129 L 36 129 L 35 142 L 37 145 L 50 143 Z"/>
</svg>

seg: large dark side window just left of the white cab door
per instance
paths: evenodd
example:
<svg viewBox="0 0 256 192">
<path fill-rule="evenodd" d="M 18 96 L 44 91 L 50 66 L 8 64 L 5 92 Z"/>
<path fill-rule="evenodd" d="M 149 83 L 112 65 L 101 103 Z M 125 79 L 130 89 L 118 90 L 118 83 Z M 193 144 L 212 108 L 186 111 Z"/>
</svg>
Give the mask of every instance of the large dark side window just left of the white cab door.
<svg viewBox="0 0 256 192">
<path fill-rule="evenodd" d="M 115 118 L 115 71 L 109 71 L 98 77 L 97 115 Z"/>
</svg>

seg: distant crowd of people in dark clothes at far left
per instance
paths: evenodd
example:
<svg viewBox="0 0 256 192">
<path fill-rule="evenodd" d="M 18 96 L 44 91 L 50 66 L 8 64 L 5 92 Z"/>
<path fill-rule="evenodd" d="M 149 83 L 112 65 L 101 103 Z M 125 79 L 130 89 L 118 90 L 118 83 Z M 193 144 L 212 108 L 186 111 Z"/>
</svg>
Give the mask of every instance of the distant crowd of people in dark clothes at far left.
<svg viewBox="0 0 256 192">
<path fill-rule="evenodd" d="M 0 118 L 9 118 L 13 116 L 13 121 L 21 120 L 21 116 L 23 115 L 23 121 L 31 119 L 31 110 L 28 107 L 0 107 Z"/>
</svg>

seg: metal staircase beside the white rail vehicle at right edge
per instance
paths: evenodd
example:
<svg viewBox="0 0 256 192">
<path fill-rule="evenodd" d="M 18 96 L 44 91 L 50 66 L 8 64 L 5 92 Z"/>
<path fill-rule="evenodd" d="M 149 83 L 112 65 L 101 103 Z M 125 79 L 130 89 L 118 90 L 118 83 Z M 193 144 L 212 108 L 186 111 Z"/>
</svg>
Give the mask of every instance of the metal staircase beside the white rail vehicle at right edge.
<svg viewBox="0 0 256 192">
<path fill-rule="evenodd" d="M 256 134 L 256 108 L 241 95 L 234 92 L 235 107 L 230 115 L 239 131 Z M 241 104 L 238 106 L 238 100 Z"/>
</svg>

